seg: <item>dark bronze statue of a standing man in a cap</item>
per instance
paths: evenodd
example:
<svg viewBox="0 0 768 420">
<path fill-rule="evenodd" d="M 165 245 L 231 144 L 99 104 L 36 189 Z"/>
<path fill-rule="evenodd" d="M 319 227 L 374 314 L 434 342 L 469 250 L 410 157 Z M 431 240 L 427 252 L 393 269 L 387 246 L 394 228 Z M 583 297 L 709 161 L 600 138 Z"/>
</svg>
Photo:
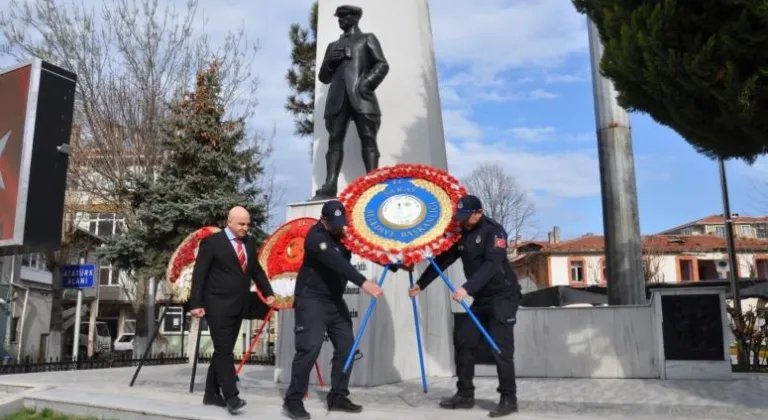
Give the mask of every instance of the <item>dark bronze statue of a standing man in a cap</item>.
<svg viewBox="0 0 768 420">
<path fill-rule="evenodd" d="M 325 129 L 328 130 L 328 153 L 325 155 L 325 183 L 314 199 L 335 198 L 341 164 L 344 160 L 344 136 L 350 121 L 355 122 L 363 152 L 365 172 L 379 167 L 376 135 L 381 126 L 381 110 L 376 88 L 389 72 L 376 35 L 363 33 L 357 26 L 363 9 L 339 6 L 336 16 L 344 31 L 338 41 L 325 50 L 318 79 L 329 84 L 325 102 Z"/>
</svg>

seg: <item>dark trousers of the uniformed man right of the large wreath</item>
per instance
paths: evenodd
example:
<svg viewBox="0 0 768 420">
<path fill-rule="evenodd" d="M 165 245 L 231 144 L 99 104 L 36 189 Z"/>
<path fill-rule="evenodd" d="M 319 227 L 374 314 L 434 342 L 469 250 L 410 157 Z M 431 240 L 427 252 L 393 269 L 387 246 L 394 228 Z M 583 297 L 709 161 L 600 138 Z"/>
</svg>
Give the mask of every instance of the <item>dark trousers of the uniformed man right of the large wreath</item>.
<svg viewBox="0 0 768 420">
<path fill-rule="evenodd" d="M 472 311 L 480 323 L 488 330 L 496 344 L 501 349 L 499 355 L 493 351 L 496 359 L 496 371 L 499 375 L 499 387 L 496 389 L 503 397 L 517 400 L 517 385 L 515 384 L 515 323 L 517 307 L 520 303 L 517 297 L 497 296 L 485 302 L 472 304 Z M 456 337 L 456 383 L 458 394 L 463 397 L 474 397 L 475 386 L 475 353 L 480 340 L 485 340 L 472 319 L 467 317 Z"/>
</svg>

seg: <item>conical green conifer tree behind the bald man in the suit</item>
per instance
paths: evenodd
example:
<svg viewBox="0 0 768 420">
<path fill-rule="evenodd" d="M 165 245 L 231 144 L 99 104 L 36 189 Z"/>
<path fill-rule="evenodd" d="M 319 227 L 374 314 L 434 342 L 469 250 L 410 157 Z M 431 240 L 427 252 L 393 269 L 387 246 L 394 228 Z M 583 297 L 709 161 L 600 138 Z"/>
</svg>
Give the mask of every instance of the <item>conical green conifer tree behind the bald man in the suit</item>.
<svg viewBox="0 0 768 420">
<path fill-rule="evenodd" d="M 194 92 L 172 104 L 160 132 L 167 159 L 157 180 L 134 177 L 123 191 L 135 209 L 136 224 L 110 241 L 102 255 L 139 277 L 139 286 L 150 277 L 163 278 L 181 241 L 202 226 L 221 225 L 235 205 L 251 212 L 255 235 L 265 236 L 258 187 L 263 150 L 249 146 L 244 119 L 225 119 L 219 65 L 214 62 L 200 72 Z M 137 314 L 145 308 L 146 302 L 134 303 Z M 136 335 L 146 337 L 141 324 Z"/>
</svg>

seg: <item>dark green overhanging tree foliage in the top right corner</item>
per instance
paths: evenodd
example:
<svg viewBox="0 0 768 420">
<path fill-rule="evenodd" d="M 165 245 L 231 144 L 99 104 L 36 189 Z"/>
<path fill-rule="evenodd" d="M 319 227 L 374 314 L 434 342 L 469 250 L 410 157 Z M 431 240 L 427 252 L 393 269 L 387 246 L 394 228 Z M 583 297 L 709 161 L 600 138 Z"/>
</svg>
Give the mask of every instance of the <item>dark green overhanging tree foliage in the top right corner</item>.
<svg viewBox="0 0 768 420">
<path fill-rule="evenodd" d="M 619 104 L 708 157 L 768 151 L 768 8 L 755 1 L 573 0 L 605 47 Z"/>
</svg>

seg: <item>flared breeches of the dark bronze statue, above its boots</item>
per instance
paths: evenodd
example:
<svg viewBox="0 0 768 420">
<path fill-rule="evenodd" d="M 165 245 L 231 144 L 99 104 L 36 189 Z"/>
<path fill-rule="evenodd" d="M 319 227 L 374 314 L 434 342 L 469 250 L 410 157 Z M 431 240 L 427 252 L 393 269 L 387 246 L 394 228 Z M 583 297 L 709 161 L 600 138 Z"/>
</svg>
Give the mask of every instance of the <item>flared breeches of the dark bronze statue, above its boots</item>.
<svg viewBox="0 0 768 420">
<path fill-rule="evenodd" d="M 363 155 L 375 153 L 379 156 L 376 135 L 381 126 L 381 115 L 360 114 L 352 108 L 349 98 L 344 97 L 341 110 L 335 115 L 325 117 L 325 129 L 328 130 L 328 152 L 344 151 L 344 136 L 347 134 L 349 122 L 354 121 L 357 136 L 360 137 L 360 148 Z"/>
</svg>

